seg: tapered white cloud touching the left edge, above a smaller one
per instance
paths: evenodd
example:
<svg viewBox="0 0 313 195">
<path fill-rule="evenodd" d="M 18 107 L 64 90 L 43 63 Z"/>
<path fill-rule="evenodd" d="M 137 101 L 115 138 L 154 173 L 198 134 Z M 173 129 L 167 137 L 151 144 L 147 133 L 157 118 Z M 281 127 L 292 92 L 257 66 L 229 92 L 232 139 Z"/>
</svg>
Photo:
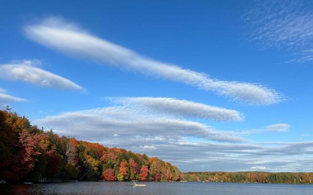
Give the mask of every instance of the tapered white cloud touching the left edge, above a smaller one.
<svg viewBox="0 0 313 195">
<path fill-rule="evenodd" d="M 21 80 L 48 88 L 84 90 L 83 87 L 43 69 L 34 67 L 31 61 L 22 64 L 1 64 L 0 78 L 7 80 Z"/>
</svg>

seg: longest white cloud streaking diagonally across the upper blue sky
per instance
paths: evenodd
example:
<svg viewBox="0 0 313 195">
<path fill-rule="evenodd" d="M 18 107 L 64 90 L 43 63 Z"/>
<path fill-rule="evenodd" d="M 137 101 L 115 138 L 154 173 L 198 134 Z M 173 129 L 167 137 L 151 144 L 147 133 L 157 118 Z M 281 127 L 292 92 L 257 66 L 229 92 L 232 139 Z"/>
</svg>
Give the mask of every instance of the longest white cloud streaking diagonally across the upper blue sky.
<svg viewBox="0 0 313 195">
<path fill-rule="evenodd" d="M 49 18 L 40 24 L 26 26 L 24 31 L 29 39 L 75 57 L 84 57 L 122 69 L 182 82 L 247 104 L 270 105 L 282 100 L 279 93 L 265 86 L 213 79 L 203 73 L 149 59 L 57 18 Z"/>
</svg>

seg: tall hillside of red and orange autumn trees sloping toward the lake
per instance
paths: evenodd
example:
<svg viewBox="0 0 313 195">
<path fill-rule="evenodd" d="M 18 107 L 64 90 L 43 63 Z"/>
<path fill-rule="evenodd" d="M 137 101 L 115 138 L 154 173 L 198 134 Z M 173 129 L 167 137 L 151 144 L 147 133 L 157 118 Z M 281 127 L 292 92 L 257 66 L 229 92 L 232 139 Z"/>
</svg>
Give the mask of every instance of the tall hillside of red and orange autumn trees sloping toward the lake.
<svg viewBox="0 0 313 195">
<path fill-rule="evenodd" d="M 26 117 L 0 110 L 0 179 L 177 181 L 179 169 L 148 157 L 99 143 L 60 137 L 31 125 Z"/>
</svg>

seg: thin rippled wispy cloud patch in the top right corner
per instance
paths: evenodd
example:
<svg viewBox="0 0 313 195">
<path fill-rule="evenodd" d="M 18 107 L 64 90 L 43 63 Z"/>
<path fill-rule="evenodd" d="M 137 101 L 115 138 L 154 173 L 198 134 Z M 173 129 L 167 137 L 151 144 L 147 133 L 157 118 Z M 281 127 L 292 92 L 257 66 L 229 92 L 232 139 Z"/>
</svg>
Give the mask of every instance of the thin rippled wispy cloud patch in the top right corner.
<svg viewBox="0 0 313 195">
<path fill-rule="evenodd" d="M 313 3 L 300 0 L 254 1 L 244 19 L 250 38 L 266 47 L 283 49 L 289 61 L 313 60 Z"/>
</svg>

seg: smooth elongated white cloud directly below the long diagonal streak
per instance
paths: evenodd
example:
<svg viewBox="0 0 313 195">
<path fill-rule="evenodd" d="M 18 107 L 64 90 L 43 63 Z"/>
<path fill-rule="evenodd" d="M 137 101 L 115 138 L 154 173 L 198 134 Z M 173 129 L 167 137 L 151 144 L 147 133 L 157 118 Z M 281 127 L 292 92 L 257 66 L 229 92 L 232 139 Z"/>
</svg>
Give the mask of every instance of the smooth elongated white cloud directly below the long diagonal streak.
<svg viewBox="0 0 313 195">
<path fill-rule="evenodd" d="M 216 121 L 241 121 L 243 115 L 236 110 L 229 110 L 202 103 L 180 100 L 175 98 L 109 98 L 123 105 L 141 105 L 157 112 L 173 114 L 182 117 L 199 117 Z"/>
</svg>

